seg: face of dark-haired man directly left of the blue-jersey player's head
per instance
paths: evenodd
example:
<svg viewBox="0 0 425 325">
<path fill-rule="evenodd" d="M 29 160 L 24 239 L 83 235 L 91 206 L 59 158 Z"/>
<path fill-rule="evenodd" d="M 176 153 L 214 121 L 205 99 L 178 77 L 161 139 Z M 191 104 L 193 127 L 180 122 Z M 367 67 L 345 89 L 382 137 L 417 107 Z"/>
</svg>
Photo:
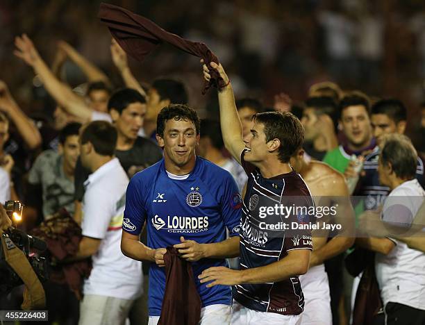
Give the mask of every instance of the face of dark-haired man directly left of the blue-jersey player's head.
<svg viewBox="0 0 425 325">
<path fill-rule="evenodd" d="M 144 115 L 146 114 L 145 103 L 131 103 L 121 114 L 117 110 L 110 110 L 110 116 L 115 123 L 117 132 L 124 138 L 135 140 L 138 138 L 140 128 L 143 126 Z"/>
</svg>

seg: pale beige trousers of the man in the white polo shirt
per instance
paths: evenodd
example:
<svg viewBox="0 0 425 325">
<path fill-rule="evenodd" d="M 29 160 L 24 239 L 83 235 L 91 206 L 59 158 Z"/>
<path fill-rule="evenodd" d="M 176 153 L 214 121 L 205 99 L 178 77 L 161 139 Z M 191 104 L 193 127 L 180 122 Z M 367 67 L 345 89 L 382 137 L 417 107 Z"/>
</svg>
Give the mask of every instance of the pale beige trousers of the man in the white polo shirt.
<svg viewBox="0 0 425 325">
<path fill-rule="evenodd" d="M 85 294 L 78 325 L 124 325 L 133 300 Z"/>
</svg>

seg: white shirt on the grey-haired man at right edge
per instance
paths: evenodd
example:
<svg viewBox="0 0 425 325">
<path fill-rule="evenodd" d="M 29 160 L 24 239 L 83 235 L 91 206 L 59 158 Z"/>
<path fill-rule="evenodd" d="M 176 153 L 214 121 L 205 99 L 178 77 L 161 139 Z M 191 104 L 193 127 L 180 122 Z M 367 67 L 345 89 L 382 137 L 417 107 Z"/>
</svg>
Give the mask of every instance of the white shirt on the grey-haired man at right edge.
<svg viewBox="0 0 425 325">
<path fill-rule="evenodd" d="M 416 179 L 394 188 L 383 206 L 383 220 L 411 224 L 424 201 L 425 191 Z M 391 239 L 392 240 L 392 239 Z M 376 253 L 376 278 L 383 303 L 402 303 L 425 310 L 425 253 L 393 240 L 396 246 L 386 256 Z"/>
</svg>

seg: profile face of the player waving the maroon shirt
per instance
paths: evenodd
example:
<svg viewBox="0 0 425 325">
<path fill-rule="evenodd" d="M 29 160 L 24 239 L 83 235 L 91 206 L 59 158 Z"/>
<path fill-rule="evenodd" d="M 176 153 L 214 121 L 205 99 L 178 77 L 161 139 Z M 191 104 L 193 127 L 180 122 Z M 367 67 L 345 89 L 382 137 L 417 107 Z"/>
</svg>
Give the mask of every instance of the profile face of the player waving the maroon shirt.
<svg viewBox="0 0 425 325">
<path fill-rule="evenodd" d="M 244 160 L 250 163 L 260 163 L 267 157 L 269 150 L 267 147 L 264 124 L 254 123 L 249 135 L 244 137 L 245 152 Z"/>
</svg>

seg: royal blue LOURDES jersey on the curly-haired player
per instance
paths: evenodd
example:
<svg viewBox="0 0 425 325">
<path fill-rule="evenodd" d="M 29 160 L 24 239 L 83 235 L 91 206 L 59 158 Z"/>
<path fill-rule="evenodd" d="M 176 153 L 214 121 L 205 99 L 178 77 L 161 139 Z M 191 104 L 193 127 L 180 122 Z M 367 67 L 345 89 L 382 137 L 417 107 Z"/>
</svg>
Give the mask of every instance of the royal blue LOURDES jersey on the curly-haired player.
<svg viewBox="0 0 425 325">
<path fill-rule="evenodd" d="M 197 157 L 186 179 L 170 178 L 164 160 L 131 178 L 126 193 L 123 230 L 133 235 L 147 224 L 147 246 L 165 248 L 180 237 L 199 243 L 226 240 L 239 235 L 242 200 L 231 174 Z M 231 304 L 231 288 L 206 288 L 198 276 L 208 267 L 226 266 L 225 259 L 201 259 L 192 263 L 202 306 Z M 149 270 L 149 315 L 159 316 L 165 292 L 165 270 L 152 263 Z"/>
</svg>

